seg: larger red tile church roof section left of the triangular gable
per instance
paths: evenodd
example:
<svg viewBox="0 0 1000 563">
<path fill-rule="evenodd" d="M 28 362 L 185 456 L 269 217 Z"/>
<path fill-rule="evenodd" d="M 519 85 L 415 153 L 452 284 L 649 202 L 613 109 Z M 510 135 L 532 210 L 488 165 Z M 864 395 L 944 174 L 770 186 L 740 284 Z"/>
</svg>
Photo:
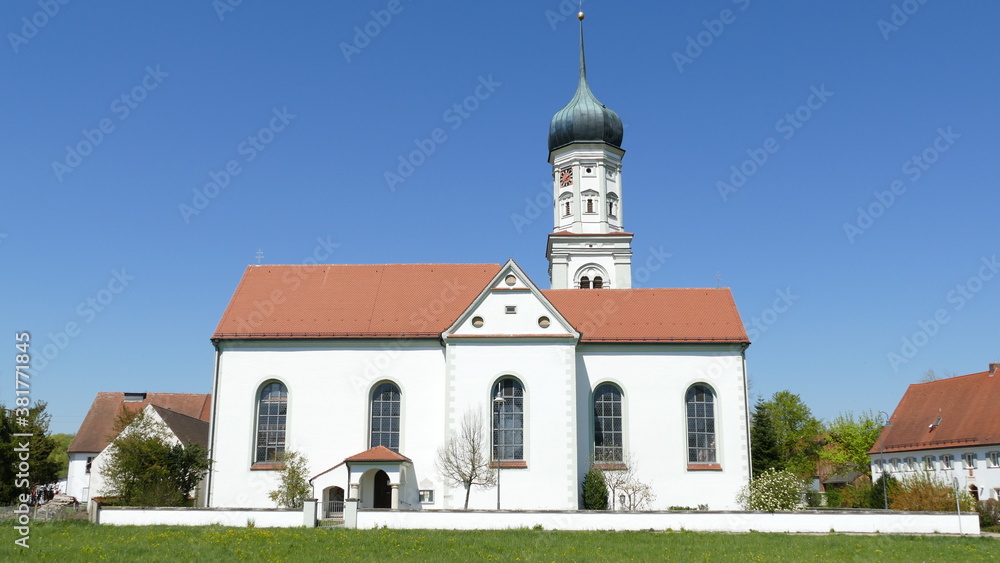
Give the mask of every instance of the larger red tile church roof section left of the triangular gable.
<svg viewBox="0 0 1000 563">
<path fill-rule="evenodd" d="M 437 338 L 499 264 L 249 266 L 212 338 Z"/>
</svg>

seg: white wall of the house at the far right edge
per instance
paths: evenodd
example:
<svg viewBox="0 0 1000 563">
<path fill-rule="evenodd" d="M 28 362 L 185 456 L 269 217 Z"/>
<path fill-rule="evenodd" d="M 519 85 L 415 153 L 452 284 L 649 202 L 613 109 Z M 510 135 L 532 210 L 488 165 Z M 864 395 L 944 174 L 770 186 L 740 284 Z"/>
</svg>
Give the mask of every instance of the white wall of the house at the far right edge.
<svg viewBox="0 0 1000 563">
<path fill-rule="evenodd" d="M 885 466 L 888 468 L 889 460 L 893 458 L 898 458 L 902 461 L 907 457 L 914 457 L 917 463 L 921 464 L 924 456 L 933 455 L 934 470 L 929 472 L 933 477 L 942 480 L 948 485 L 953 485 L 954 479 L 958 479 L 958 488 L 963 491 L 968 491 L 970 485 L 975 485 L 979 488 L 980 500 L 986 500 L 988 498 L 1000 499 L 1000 467 L 992 465 L 989 456 L 990 452 L 996 451 L 1000 451 L 1000 444 L 912 452 L 893 451 L 885 452 L 884 454 L 869 454 L 869 457 L 872 461 L 872 478 L 877 480 L 882 476 L 877 463 L 879 459 L 884 458 Z M 964 456 L 967 453 L 976 454 L 976 466 L 974 468 L 965 467 Z M 954 458 L 950 468 L 944 467 L 941 462 L 941 456 L 944 454 L 951 454 Z M 890 469 L 889 473 L 896 479 L 905 479 L 917 475 L 922 471 L 923 469 L 914 470 L 912 468 L 907 471 Z"/>
</svg>

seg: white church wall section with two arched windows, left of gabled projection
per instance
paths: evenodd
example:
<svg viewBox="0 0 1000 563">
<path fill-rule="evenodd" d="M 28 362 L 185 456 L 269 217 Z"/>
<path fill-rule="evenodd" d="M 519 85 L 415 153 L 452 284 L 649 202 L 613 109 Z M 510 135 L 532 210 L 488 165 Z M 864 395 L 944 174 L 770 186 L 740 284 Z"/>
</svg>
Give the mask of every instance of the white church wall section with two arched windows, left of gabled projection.
<svg viewBox="0 0 1000 563">
<path fill-rule="evenodd" d="M 224 342 L 219 366 L 209 506 L 273 507 L 275 471 L 251 471 L 256 405 L 270 380 L 288 388 L 286 447 L 306 455 L 310 475 L 368 449 L 371 392 L 392 381 L 402 394 L 400 453 L 418 479 L 400 501 L 419 506 L 418 481 L 443 440 L 444 352 L 436 340 Z M 345 485 L 338 483 L 338 486 Z M 345 487 L 345 492 L 347 491 Z"/>
</svg>

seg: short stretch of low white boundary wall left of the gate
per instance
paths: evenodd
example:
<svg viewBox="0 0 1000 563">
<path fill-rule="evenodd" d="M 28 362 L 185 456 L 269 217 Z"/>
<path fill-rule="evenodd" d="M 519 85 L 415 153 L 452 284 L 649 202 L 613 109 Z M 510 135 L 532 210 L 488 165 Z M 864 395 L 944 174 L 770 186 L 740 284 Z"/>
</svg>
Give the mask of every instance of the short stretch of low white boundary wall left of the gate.
<svg viewBox="0 0 1000 563">
<path fill-rule="evenodd" d="M 314 508 L 315 510 L 315 508 Z M 254 508 L 129 508 L 102 506 L 97 523 L 113 526 L 208 526 L 294 528 L 304 525 L 303 511 Z"/>
</svg>

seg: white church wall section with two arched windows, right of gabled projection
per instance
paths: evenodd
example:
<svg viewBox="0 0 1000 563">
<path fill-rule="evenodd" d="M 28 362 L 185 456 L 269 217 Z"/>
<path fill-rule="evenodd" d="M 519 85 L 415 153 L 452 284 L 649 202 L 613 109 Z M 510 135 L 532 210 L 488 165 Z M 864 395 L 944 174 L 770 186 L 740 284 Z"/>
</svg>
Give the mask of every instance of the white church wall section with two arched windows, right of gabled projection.
<svg viewBox="0 0 1000 563">
<path fill-rule="evenodd" d="M 581 345 L 577 376 L 579 480 L 593 455 L 593 390 L 615 383 L 623 395 L 625 448 L 640 481 L 656 495 L 649 507 L 708 505 L 735 509 L 749 480 L 743 360 L 721 345 Z M 722 470 L 689 470 L 685 395 L 696 383 L 715 391 L 717 460 Z"/>
</svg>

